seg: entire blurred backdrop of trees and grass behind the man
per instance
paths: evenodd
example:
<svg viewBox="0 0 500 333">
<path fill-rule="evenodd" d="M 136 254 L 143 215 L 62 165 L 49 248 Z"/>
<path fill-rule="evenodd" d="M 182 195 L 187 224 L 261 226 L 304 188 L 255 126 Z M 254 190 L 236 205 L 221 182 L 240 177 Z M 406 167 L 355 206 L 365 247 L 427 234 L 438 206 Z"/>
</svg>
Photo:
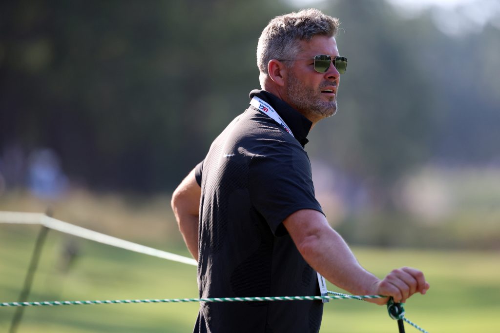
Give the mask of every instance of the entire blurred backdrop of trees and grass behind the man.
<svg viewBox="0 0 500 333">
<path fill-rule="evenodd" d="M 431 290 L 408 302 L 410 320 L 430 332 L 491 331 L 500 5 L 426 2 L 3 1 L 0 210 L 50 207 L 57 219 L 188 255 L 172 190 L 259 87 L 255 48 L 268 20 L 314 6 L 341 20 L 349 59 L 339 111 L 306 146 L 330 224 L 378 276 L 425 272 Z M 0 224 L 0 302 L 17 299 L 36 233 Z M 193 267 L 49 232 L 29 299 L 196 296 Z M 32 308 L 18 332 L 189 332 L 196 309 Z M 12 314 L 0 309 L 0 331 Z M 381 307 L 335 301 L 321 332 L 395 328 Z"/>
</svg>

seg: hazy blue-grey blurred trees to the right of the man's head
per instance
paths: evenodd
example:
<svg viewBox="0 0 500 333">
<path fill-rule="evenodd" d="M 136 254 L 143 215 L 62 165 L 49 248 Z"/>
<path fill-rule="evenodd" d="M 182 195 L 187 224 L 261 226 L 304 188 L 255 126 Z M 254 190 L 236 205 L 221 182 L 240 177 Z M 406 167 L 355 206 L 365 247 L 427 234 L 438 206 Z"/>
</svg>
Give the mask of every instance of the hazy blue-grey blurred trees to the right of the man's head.
<svg viewBox="0 0 500 333">
<path fill-rule="evenodd" d="M 338 114 L 311 133 L 329 143 L 313 146 L 314 155 L 365 183 L 385 208 L 392 185 L 422 163 L 498 163 L 500 99 L 490 70 L 500 70 L 498 29 L 455 38 L 436 29 L 430 11 L 403 18 L 383 1 L 324 9 L 342 20 L 337 40 L 349 66 Z"/>
</svg>

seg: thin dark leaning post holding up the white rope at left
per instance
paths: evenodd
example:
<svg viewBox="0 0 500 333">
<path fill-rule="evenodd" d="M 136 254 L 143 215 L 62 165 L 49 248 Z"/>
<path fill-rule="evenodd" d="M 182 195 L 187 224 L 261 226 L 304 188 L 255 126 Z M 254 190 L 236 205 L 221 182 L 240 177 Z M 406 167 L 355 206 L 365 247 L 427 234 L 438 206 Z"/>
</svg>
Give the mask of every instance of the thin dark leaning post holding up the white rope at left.
<svg viewBox="0 0 500 333">
<path fill-rule="evenodd" d="M 26 273 L 26 277 L 24 278 L 24 286 L 22 287 L 21 294 L 19 295 L 19 303 L 26 302 L 29 296 L 29 291 L 31 290 L 31 285 L 33 284 L 34 273 L 36 271 L 36 267 L 38 266 L 38 261 L 40 260 L 41 249 L 43 247 L 43 243 L 45 242 L 47 232 L 48 228 L 42 226 L 40 232 L 38 233 L 38 237 L 36 238 L 33 254 L 31 255 L 31 262 L 29 263 L 29 268 Z M 10 330 L 8 331 L 9 333 L 15 333 L 17 331 L 17 326 L 22 319 L 23 312 L 24 307 L 15 308 L 14 317 L 12 318 Z"/>
</svg>

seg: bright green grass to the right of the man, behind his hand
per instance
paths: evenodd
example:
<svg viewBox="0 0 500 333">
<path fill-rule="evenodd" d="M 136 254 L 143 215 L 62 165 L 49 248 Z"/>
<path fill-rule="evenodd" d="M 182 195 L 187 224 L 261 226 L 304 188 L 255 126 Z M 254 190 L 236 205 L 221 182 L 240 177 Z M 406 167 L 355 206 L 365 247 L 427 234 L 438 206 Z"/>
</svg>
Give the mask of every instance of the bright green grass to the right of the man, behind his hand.
<svg viewBox="0 0 500 333">
<path fill-rule="evenodd" d="M 406 318 L 425 330 L 450 333 L 496 330 L 496 314 L 500 311 L 498 253 L 367 248 L 354 252 L 363 266 L 379 277 L 405 265 L 425 272 L 431 285 L 427 295 L 415 295 L 405 306 Z M 387 316 L 382 314 L 385 309 L 370 306 L 338 306 L 335 311 L 341 321 L 323 320 L 323 327 L 329 323 L 336 325 L 338 331 L 321 332 L 397 332 L 395 322 L 383 316 Z M 355 323 L 356 327 L 351 329 L 348 323 Z M 406 332 L 417 331 L 408 327 Z"/>
</svg>

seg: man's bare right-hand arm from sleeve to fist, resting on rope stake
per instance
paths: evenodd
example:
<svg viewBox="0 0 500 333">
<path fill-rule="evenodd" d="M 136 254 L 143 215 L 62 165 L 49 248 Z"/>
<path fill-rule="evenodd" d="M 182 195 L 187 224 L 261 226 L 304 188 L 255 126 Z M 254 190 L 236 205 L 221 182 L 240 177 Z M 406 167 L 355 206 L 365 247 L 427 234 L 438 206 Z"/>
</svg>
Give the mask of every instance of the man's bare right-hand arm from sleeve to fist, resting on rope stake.
<svg viewBox="0 0 500 333">
<path fill-rule="evenodd" d="M 423 273 L 414 268 L 394 269 L 383 280 L 363 269 L 342 237 L 317 211 L 297 211 L 283 224 L 305 261 L 326 280 L 349 293 L 385 295 L 393 297 L 395 302 L 404 302 L 414 293 L 425 294 L 429 289 Z M 377 304 L 386 301 L 369 300 Z"/>
</svg>

